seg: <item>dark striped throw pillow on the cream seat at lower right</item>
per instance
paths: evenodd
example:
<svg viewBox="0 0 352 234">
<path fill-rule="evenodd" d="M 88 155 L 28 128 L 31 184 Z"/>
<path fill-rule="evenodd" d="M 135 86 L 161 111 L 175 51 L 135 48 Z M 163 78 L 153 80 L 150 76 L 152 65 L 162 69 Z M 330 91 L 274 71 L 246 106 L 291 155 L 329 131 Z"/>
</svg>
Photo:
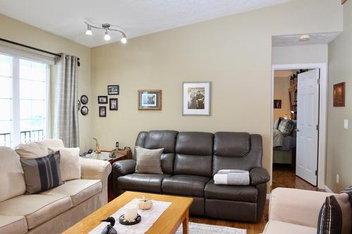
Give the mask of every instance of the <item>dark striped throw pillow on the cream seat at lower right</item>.
<svg viewBox="0 0 352 234">
<path fill-rule="evenodd" d="M 351 193 L 339 193 L 325 199 L 318 218 L 318 234 L 351 234 Z"/>
</svg>

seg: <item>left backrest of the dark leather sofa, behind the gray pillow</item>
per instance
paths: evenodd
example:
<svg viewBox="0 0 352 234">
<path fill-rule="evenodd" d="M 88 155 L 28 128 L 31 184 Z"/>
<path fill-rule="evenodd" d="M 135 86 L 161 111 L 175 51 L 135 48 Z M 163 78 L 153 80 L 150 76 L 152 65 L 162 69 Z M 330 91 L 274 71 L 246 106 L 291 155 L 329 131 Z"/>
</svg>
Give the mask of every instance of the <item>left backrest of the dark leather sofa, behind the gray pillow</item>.
<svg viewBox="0 0 352 234">
<path fill-rule="evenodd" d="M 170 130 L 141 131 L 137 136 L 136 146 L 151 150 L 164 148 L 161 155 L 161 169 L 165 174 L 172 174 L 177 134 L 178 131 Z"/>
</svg>

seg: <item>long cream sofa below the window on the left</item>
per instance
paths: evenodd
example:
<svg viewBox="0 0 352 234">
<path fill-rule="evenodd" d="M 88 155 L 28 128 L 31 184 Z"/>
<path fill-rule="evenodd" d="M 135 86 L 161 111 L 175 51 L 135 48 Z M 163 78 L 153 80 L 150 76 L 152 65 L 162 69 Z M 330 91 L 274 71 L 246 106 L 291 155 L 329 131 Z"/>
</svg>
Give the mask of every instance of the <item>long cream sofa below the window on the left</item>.
<svg viewBox="0 0 352 234">
<path fill-rule="evenodd" d="M 37 142 L 61 148 L 61 140 Z M 62 233 L 108 201 L 111 164 L 80 159 L 81 179 L 43 193 L 26 195 L 20 156 L 0 147 L 0 234 Z"/>
</svg>

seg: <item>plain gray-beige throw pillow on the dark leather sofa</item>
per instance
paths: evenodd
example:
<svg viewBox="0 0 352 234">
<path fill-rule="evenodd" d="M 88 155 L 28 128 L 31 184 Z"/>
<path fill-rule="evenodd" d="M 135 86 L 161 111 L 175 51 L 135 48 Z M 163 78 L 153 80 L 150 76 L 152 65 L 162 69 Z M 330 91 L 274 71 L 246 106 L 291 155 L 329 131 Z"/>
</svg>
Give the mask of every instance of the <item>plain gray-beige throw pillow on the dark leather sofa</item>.
<svg viewBox="0 0 352 234">
<path fill-rule="evenodd" d="M 136 173 L 163 174 L 161 169 L 161 154 L 164 148 L 149 150 L 141 147 L 136 147 Z"/>
</svg>

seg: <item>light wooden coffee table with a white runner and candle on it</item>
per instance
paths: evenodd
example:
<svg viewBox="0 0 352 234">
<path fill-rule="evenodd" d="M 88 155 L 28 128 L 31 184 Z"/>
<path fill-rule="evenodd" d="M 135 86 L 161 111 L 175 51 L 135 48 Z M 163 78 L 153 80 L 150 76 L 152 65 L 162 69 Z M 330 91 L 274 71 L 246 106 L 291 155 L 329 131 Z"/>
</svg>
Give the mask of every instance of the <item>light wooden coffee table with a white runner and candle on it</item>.
<svg viewBox="0 0 352 234">
<path fill-rule="evenodd" d="M 193 198 L 151 193 L 136 193 L 129 191 L 116 197 L 113 201 L 108 202 L 108 204 L 104 205 L 100 209 L 97 209 L 95 212 L 82 219 L 68 230 L 65 230 L 64 233 L 89 233 L 89 231 L 93 230 L 99 225 L 99 223 L 101 223 L 100 221 L 102 219 L 106 219 L 106 217 L 111 216 L 111 214 L 117 212 L 118 209 L 132 201 L 134 198 L 142 198 L 143 196 L 151 200 L 172 202 L 170 207 L 168 207 L 168 209 L 161 214 L 159 219 L 153 223 L 153 226 L 151 226 L 146 233 L 175 233 L 181 223 L 183 233 L 188 233 L 189 207 L 193 202 Z"/>
</svg>

